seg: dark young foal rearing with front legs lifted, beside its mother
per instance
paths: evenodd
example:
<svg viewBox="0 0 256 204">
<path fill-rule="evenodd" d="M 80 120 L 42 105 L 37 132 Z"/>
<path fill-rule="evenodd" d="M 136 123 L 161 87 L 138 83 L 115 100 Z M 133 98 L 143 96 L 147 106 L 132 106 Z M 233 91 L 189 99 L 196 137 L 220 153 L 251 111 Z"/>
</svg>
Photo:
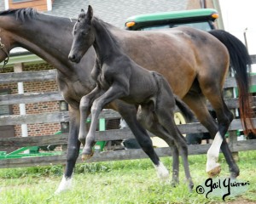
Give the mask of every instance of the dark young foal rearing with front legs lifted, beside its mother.
<svg viewBox="0 0 256 204">
<path fill-rule="evenodd" d="M 96 88 L 80 101 L 79 138 L 86 138 L 82 158 L 85 160 L 92 155 L 96 124 L 103 107 L 114 99 L 121 99 L 132 105 L 140 105 L 137 118 L 148 127 L 162 129 L 164 139 L 173 147 L 173 182 L 178 181 L 179 153 L 183 158 L 183 167 L 191 190 L 193 182 L 189 173 L 188 147 L 173 119 L 176 101 L 179 106 L 183 105 L 183 102 L 174 97 L 166 79 L 157 72 L 147 71 L 124 54 L 119 43 L 108 31 L 108 28 L 102 24 L 102 20 L 93 17 L 90 6 L 87 14 L 84 13 L 84 10 L 79 14 L 73 34 L 69 59 L 75 61 L 73 55 L 85 54 L 91 45 L 96 50 L 96 64 L 91 72 L 92 77 L 96 80 Z M 90 112 L 91 124 L 87 133 L 84 121 Z M 149 141 L 148 139 L 138 139 L 142 148 L 152 146 L 151 143 L 145 145 Z M 155 167 L 161 178 L 168 177 L 169 173 L 161 162 Z"/>
</svg>

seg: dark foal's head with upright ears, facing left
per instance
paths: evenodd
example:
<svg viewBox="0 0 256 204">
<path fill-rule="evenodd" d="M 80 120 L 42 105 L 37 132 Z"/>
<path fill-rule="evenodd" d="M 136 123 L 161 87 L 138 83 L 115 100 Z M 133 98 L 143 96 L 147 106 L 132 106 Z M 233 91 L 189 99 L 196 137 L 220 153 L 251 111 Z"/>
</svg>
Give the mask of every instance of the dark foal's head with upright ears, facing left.
<svg viewBox="0 0 256 204">
<path fill-rule="evenodd" d="M 87 50 L 95 41 L 95 34 L 92 28 L 93 11 L 88 6 L 87 13 L 84 9 L 81 10 L 79 18 L 73 27 L 73 44 L 68 54 L 68 59 L 73 62 L 79 63 L 80 59 L 84 56 Z"/>
</svg>

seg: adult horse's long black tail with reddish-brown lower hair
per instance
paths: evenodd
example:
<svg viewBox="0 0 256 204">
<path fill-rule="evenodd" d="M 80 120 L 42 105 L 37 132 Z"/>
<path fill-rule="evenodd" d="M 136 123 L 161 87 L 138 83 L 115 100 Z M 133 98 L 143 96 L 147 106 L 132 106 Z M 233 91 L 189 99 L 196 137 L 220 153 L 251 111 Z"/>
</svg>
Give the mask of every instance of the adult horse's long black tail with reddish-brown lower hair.
<svg viewBox="0 0 256 204">
<path fill-rule="evenodd" d="M 241 115 L 241 123 L 246 133 L 256 130 L 253 126 L 253 110 L 250 105 L 249 94 L 249 77 L 247 67 L 252 65 L 252 60 L 247 52 L 245 45 L 235 36 L 227 31 L 212 30 L 209 31 L 212 36 L 216 37 L 228 49 L 230 54 L 230 65 L 236 77 L 236 83 L 239 91 L 239 109 Z"/>
</svg>

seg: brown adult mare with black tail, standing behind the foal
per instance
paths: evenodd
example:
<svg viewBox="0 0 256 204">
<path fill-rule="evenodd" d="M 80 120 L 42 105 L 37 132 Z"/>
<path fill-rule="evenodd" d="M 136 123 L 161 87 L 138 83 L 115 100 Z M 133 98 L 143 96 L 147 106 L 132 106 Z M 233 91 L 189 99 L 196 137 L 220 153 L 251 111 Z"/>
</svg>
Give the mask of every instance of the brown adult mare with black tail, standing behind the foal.
<svg viewBox="0 0 256 204">
<path fill-rule="evenodd" d="M 67 58 L 73 41 L 73 26 L 74 22 L 70 19 L 40 14 L 32 8 L 0 12 L 0 37 L 4 45 L 0 50 L 0 61 L 6 59 L 12 48 L 19 46 L 38 54 L 57 69 L 58 86 L 69 104 L 67 166 L 57 192 L 67 189 L 71 184 L 73 168 L 79 156 L 80 99 L 96 86 L 90 77 L 96 57 L 93 48 L 89 49 L 79 64 Z M 231 62 L 242 93 L 240 110 L 244 112 L 244 117 L 248 117 L 246 114 L 249 111 L 244 110 L 249 110 L 246 72 L 247 64 L 250 64 L 249 56 L 236 37 L 224 31 L 211 31 L 217 38 L 223 38 L 221 43 L 207 32 L 187 28 L 146 32 L 123 31 L 109 26 L 109 30 L 118 38 L 125 53 L 138 65 L 158 71 L 166 77 L 173 93 L 189 105 L 212 138 L 218 130 L 224 135 L 232 119 L 222 97 L 224 79 Z M 207 111 L 206 98 L 217 112 L 218 123 Z M 148 134 L 137 122 L 137 109 L 133 105 L 115 101 L 106 108 L 119 111 L 136 137 L 148 139 Z M 229 164 L 231 177 L 236 178 L 239 168 L 225 139 L 221 150 Z"/>
</svg>

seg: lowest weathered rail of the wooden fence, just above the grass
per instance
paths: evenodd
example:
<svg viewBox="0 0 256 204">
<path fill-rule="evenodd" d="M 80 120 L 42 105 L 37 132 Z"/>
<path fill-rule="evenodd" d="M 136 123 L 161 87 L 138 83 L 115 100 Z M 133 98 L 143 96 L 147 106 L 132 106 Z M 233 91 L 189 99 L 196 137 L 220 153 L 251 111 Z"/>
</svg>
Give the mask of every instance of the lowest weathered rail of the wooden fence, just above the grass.
<svg viewBox="0 0 256 204">
<path fill-rule="evenodd" d="M 237 143 L 229 144 L 230 150 L 232 152 L 245 151 L 245 150 L 255 150 L 256 139 L 251 140 L 249 143 L 247 141 L 239 141 Z M 209 149 L 210 144 L 191 144 L 189 145 L 189 155 L 201 155 L 206 154 Z M 168 147 L 156 148 L 155 149 L 158 156 L 172 156 L 171 150 Z M 148 158 L 143 150 L 112 150 L 96 152 L 86 162 L 96 162 L 96 161 L 119 161 L 119 160 L 131 160 L 131 159 L 143 159 Z M 0 168 L 9 167 L 38 167 L 45 165 L 56 165 L 65 164 L 66 155 L 61 156 L 38 156 L 38 157 L 26 157 L 20 159 L 8 159 L 0 160 Z M 82 162 L 79 156 L 78 163 Z"/>
</svg>

